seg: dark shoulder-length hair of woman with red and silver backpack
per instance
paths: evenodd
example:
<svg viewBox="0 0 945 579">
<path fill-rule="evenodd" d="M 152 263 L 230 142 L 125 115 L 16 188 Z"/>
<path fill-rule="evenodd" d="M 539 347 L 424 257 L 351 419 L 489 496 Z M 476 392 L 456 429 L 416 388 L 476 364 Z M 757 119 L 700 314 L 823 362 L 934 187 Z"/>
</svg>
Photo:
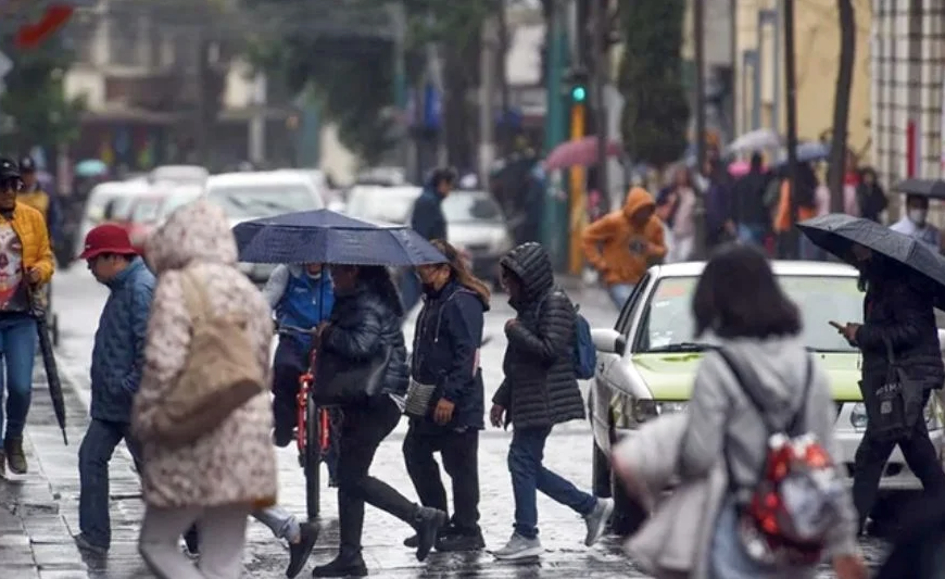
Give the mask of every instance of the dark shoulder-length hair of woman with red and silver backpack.
<svg viewBox="0 0 945 579">
<path fill-rule="evenodd" d="M 801 333 L 797 306 L 754 246 L 727 243 L 703 269 L 692 298 L 695 335 L 754 338 Z"/>
</svg>

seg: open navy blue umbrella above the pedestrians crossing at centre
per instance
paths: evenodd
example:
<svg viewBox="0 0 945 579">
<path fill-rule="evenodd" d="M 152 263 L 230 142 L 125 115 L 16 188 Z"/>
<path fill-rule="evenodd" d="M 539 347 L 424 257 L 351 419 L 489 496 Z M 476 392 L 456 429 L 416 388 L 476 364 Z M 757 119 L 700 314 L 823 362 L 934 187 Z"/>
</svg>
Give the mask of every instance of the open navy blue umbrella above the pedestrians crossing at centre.
<svg viewBox="0 0 945 579">
<path fill-rule="evenodd" d="M 354 219 L 328 210 L 243 222 L 232 229 L 249 263 L 415 266 L 446 259 L 404 225 Z"/>
</svg>

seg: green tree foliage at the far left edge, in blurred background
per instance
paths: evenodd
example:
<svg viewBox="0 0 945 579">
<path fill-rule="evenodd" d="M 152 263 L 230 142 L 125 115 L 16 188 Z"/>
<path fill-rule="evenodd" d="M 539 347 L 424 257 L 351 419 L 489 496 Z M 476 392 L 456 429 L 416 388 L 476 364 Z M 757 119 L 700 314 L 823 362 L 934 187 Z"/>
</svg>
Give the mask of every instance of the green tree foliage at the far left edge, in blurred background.
<svg viewBox="0 0 945 579">
<path fill-rule="evenodd" d="M 62 35 L 24 51 L 15 49 L 12 39 L 4 39 L 0 50 L 13 61 L 13 70 L 3 78 L 7 90 L 0 96 L 0 115 L 12 119 L 12 127 L 0 130 L 0 150 L 26 151 L 36 144 L 52 148 L 77 139 L 85 105 L 81 99 L 65 97 L 63 76 L 73 53 L 63 46 Z"/>
</svg>

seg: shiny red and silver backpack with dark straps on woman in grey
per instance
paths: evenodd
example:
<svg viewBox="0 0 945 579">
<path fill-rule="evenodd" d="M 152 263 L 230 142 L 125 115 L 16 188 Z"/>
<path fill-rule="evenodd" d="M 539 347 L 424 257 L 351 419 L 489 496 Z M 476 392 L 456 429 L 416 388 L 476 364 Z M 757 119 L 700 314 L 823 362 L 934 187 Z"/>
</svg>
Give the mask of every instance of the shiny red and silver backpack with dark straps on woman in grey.
<svg viewBox="0 0 945 579">
<path fill-rule="evenodd" d="M 827 546 L 829 531 L 841 520 L 846 490 L 822 442 L 799 427 L 810 391 L 812 363 L 807 362 L 799 407 L 788 425 L 778 426 L 771 423 L 764 397 L 756 390 L 755 373 L 731 352 L 721 349 L 719 353 L 768 430 L 768 452 L 754 489 L 740 489 L 726 461 L 730 488 L 749 491 L 739 506 L 739 536 L 745 552 L 769 565 L 815 565 Z"/>
</svg>

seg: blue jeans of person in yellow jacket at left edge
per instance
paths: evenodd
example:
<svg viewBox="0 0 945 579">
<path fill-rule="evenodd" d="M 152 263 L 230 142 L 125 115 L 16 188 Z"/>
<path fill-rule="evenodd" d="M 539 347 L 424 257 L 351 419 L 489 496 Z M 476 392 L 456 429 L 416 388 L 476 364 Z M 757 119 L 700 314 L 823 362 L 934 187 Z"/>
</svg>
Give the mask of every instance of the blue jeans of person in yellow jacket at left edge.
<svg viewBox="0 0 945 579">
<path fill-rule="evenodd" d="M 27 314 L 0 316 L 0 354 L 5 373 L 0 373 L 0 397 L 7 387 L 7 435 L 20 438 L 26 427 L 33 397 L 33 361 L 36 357 L 36 320 Z M 0 431 L 3 411 L 0 410 Z"/>
</svg>

